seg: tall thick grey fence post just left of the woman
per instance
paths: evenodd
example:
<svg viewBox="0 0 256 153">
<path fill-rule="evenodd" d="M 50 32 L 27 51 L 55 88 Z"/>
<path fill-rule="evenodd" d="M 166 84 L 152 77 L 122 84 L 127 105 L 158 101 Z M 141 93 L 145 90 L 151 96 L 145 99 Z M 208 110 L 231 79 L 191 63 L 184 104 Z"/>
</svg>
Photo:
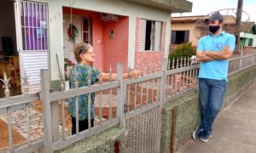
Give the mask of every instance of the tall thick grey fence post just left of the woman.
<svg viewBox="0 0 256 153">
<path fill-rule="evenodd" d="M 44 116 L 44 150 L 47 153 L 53 152 L 52 149 L 52 132 L 51 132 L 51 112 L 49 101 L 49 71 L 40 70 L 41 74 L 41 102 L 43 104 L 43 116 Z"/>
</svg>

